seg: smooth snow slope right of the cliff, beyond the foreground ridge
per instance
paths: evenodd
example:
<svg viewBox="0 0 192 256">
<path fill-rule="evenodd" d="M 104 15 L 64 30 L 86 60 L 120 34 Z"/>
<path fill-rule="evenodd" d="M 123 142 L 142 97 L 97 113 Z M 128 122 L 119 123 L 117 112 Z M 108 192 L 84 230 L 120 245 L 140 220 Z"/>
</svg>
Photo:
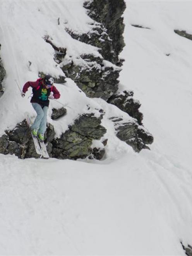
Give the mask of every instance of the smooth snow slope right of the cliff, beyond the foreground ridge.
<svg viewBox="0 0 192 256">
<path fill-rule="evenodd" d="M 174 29 L 192 33 L 192 2 L 127 2 L 127 7 L 121 82 L 141 100 L 143 122 L 154 135 L 152 150 L 190 168 L 192 41 Z"/>
</svg>

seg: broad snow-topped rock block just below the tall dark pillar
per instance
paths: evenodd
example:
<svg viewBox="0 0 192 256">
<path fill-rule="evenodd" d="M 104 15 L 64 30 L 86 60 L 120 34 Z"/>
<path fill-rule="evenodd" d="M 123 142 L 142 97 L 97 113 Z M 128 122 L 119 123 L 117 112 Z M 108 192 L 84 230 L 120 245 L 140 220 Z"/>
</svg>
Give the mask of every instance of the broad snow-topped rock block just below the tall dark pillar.
<svg viewBox="0 0 192 256">
<path fill-rule="evenodd" d="M 121 69 L 106 67 L 103 60 L 93 55 L 81 55 L 84 65 L 68 62 L 62 70 L 90 98 L 108 100 L 118 89 L 118 77 Z"/>
</svg>

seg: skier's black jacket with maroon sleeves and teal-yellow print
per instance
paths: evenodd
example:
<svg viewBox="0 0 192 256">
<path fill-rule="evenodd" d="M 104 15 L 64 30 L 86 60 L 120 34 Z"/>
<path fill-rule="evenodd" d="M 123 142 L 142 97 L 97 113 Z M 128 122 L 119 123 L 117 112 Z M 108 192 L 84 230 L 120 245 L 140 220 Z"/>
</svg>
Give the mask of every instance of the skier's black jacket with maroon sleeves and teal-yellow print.
<svg viewBox="0 0 192 256">
<path fill-rule="evenodd" d="M 54 85 L 51 88 L 47 89 L 41 81 L 42 79 L 39 78 L 37 79 L 36 82 L 31 82 L 31 81 L 26 82 L 26 84 L 24 84 L 23 86 L 22 91 L 23 93 L 26 93 L 28 88 L 31 86 L 33 88 L 33 97 L 31 98 L 31 102 L 36 102 L 36 103 L 39 103 L 40 105 L 48 106 L 49 105 L 48 96 L 50 95 L 50 93 L 53 92 L 53 96 L 55 99 L 60 98 L 60 93 Z"/>
</svg>

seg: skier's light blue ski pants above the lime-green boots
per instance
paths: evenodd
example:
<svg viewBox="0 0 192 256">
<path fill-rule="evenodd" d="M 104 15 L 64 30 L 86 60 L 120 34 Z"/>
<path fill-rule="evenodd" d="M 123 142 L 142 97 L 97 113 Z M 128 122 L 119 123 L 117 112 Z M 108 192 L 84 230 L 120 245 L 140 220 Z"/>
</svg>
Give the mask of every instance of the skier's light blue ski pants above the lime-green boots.
<svg viewBox="0 0 192 256">
<path fill-rule="evenodd" d="M 37 129 L 38 133 L 45 133 L 47 125 L 47 111 L 48 107 L 44 106 L 43 108 L 38 103 L 32 103 L 34 110 L 37 112 L 36 119 L 31 125 L 31 129 Z"/>
</svg>

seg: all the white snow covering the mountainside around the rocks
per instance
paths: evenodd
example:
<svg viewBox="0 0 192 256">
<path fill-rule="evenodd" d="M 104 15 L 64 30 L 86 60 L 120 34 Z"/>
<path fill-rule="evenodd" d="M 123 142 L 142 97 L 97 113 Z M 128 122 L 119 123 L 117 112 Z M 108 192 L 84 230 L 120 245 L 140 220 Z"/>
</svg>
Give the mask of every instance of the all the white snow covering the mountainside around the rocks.
<svg viewBox="0 0 192 256">
<path fill-rule="evenodd" d="M 95 115 L 103 108 L 106 156 L 84 162 L 0 155 L 0 255 L 185 255 L 180 241 L 192 245 L 192 41 L 173 31 L 192 33 L 192 2 L 126 3 L 120 90 L 133 89 L 141 101 L 144 125 L 154 136 L 151 151 L 135 153 L 115 136 L 109 118 L 130 120 L 129 115 L 87 98 L 71 79 L 56 84 L 60 102 L 70 106 L 58 122 L 50 119 L 49 109 L 57 136 L 88 111 L 87 105 Z M 2 1 L 0 14 L 7 71 L 0 98 L 2 135 L 24 119 L 25 111 L 34 116 L 14 79 L 22 86 L 38 71 L 62 75 L 43 36 L 66 47 L 74 59 L 98 52 L 64 30 L 91 29 L 82 1 Z M 51 105 L 60 107 L 56 101 Z"/>
</svg>

